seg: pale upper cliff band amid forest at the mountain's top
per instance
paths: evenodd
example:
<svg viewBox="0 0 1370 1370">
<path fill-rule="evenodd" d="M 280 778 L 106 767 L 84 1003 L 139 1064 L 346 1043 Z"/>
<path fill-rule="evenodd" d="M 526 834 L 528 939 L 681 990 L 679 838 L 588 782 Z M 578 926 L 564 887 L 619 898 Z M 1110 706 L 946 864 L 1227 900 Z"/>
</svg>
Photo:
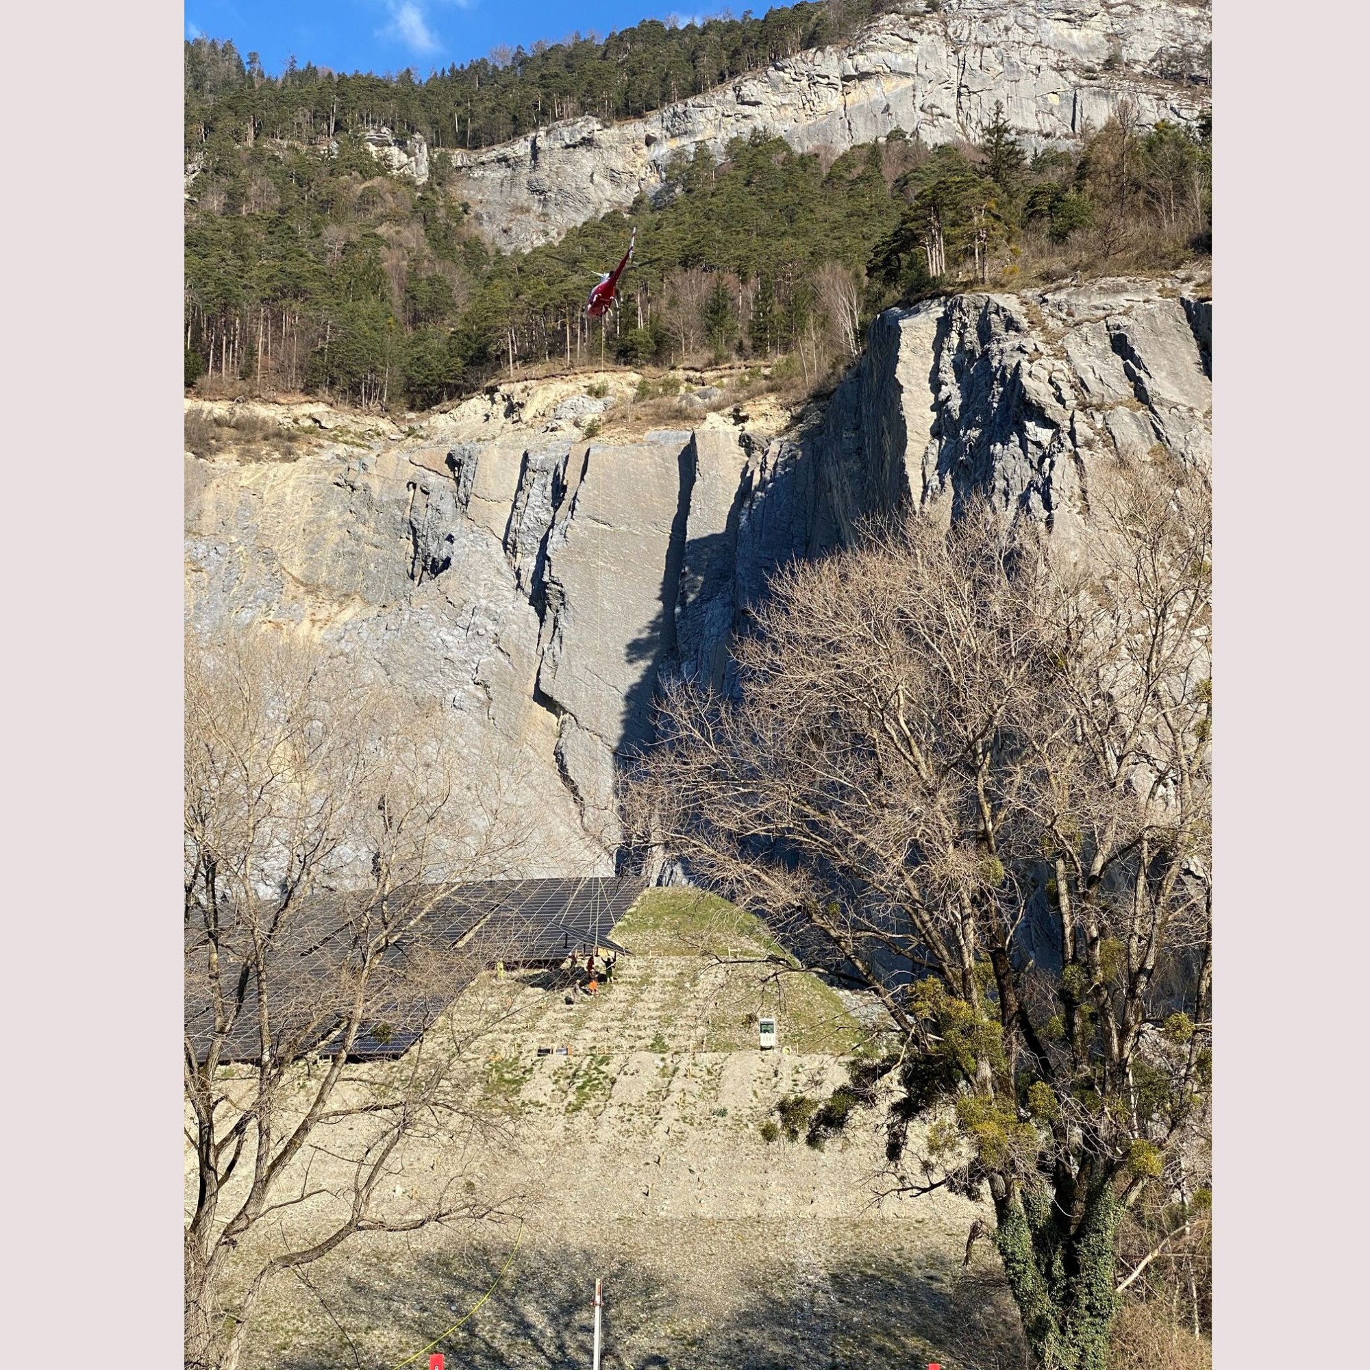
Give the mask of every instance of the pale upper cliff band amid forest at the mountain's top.
<svg viewBox="0 0 1370 1370">
<path fill-rule="evenodd" d="M 804 152 L 896 127 L 938 144 L 975 137 L 1001 101 L 1043 147 L 1099 127 L 1123 96 L 1143 123 L 1185 123 L 1207 103 L 1210 33 L 1207 0 L 947 0 L 643 119 L 567 119 L 445 155 L 475 226 L 499 247 L 529 248 L 659 192 L 677 153 L 721 156 L 751 133 Z"/>
</svg>

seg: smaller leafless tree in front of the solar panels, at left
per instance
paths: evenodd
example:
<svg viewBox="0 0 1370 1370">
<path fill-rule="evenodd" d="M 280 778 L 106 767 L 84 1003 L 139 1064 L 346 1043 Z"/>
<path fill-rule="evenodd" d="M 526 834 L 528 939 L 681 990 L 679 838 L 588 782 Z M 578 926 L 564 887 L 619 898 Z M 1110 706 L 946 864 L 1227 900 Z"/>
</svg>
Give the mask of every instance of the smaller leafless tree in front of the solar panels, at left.
<svg viewBox="0 0 1370 1370">
<path fill-rule="evenodd" d="M 488 949 L 406 937 L 427 882 L 506 874 L 529 834 L 440 711 L 260 630 L 189 652 L 185 764 L 186 1365 L 233 1370 L 278 1274 L 490 1211 L 384 1188 L 406 1148 L 482 1125 L 455 1070 L 475 1029 L 422 1030 Z M 401 1059 L 358 1063 L 404 1032 Z"/>
</svg>

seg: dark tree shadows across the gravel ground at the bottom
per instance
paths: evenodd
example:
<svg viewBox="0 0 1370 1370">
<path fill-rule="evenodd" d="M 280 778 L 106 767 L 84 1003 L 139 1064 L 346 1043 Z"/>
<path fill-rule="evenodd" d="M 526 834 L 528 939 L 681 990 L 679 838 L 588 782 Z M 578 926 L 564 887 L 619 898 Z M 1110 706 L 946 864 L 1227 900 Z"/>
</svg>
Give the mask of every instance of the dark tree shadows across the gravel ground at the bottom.
<svg viewBox="0 0 1370 1370">
<path fill-rule="evenodd" d="M 586 1214 L 586 1225 L 593 1222 Z M 921 1370 L 929 1360 L 948 1370 L 989 1370 L 1022 1363 L 1003 1277 L 982 1254 L 964 1270 L 945 1254 L 838 1255 L 792 1245 L 792 1233 L 780 1223 L 773 1232 L 748 1228 L 752 1249 L 734 1247 L 722 1265 L 717 1241 L 733 1244 L 726 1226 L 701 1232 L 700 1249 L 681 1249 L 674 1263 L 669 1251 L 653 1252 L 651 1265 L 625 1251 L 634 1236 L 649 1241 L 649 1234 L 614 1228 L 589 1234 L 607 1237 L 596 1243 L 599 1249 L 578 1243 L 525 1247 L 490 1297 L 437 1349 L 463 1370 L 588 1366 L 600 1278 L 606 1370 Z M 385 1370 L 467 1312 L 506 1256 L 507 1248 L 463 1247 L 400 1256 L 384 1274 L 338 1262 L 311 1281 L 316 1296 L 297 1291 L 312 1330 L 270 1362 L 278 1370 Z M 715 1270 L 721 1280 L 700 1303 L 700 1277 L 708 1281 Z M 386 1334 L 388 1355 L 378 1354 L 377 1332 Z M 249 1363 L 263 1362 L 264 1340 Z"/>
</svg>

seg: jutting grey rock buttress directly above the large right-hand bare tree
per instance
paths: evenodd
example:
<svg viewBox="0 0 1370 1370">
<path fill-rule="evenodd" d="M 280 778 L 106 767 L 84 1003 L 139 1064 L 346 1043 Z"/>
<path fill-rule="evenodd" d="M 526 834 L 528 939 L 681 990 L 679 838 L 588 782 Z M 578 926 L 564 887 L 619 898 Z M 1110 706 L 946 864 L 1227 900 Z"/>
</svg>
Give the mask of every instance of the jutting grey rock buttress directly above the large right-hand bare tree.
<svg viewBox="0 0 1370 1370">
<path fill-rule="evenodd" d="M 838 388 L 815 453 L 827 545 L 907 490 L 949 518 L 973 495 L 1069 529 L 1095 463 L 1211 458 L 1211 301 L 1174 281 L 959 295 L 889 310 Z M 803 447 L 803 444 L 800 444 Z M 827 521 L 827 522 L 823 522 Z"/>
</svg>

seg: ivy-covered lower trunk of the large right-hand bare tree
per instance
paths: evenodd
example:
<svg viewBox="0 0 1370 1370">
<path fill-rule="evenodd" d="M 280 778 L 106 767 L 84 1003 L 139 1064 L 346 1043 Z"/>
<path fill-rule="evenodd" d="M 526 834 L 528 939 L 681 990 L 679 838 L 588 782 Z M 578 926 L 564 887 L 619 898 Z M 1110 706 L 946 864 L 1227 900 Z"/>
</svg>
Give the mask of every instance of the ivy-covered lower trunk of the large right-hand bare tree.
<svg viewBox="0 0 1370 1370">
<path fill-rule="evenodd" d="M 1122 1214 L 1107 1180 L 1070 1207 L 1062 1197 L 1014 1182 L 995 1199 L 996 1244 L 1041 1370 L 1104 1370 Z"/>
</svg>

